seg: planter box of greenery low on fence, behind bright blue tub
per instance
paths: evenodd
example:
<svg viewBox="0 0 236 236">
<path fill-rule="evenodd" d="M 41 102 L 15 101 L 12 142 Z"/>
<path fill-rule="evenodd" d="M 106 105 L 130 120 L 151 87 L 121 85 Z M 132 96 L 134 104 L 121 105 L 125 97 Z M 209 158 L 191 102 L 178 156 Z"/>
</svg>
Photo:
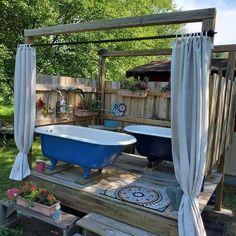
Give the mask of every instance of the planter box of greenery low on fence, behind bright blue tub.
<svg viewBox="0 0 236 236">
<path fill-rule="evenodd" d="M 82 102 L 74 108 L 75 116 L 97 116 L 101 111 L 101 101 L 93 99 L 83 99 Z"/>
</svg>

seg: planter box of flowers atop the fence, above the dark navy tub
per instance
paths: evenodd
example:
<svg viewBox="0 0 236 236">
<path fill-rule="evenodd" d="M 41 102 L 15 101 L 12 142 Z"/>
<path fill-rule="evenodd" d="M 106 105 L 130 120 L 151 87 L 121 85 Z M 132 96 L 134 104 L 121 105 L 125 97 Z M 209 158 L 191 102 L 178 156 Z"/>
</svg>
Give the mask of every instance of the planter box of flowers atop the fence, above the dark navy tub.
<svg viewBox="0 0 236 236">
<path fill-rule="evenodd" d="M 144 80 L 129 77 L 121 81 L 121 89 L 118 90 L 118 95 L 127 97 L 146 97 L 148 94 L 148 77 Z"/>
</svg>

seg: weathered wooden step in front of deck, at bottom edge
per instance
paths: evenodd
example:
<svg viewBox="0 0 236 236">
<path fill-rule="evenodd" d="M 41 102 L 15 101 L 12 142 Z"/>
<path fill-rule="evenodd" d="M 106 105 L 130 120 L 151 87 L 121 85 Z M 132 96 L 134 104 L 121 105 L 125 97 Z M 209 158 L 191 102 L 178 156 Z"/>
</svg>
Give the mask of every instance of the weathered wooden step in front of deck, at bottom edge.
<svg viewBox="0 0 236 236">
<path fill-rule="evenodd" d="M 84 230 L 102 236 L 154 236 L 156 234 L 91 212 L 76 222 Z"/>
</svg>

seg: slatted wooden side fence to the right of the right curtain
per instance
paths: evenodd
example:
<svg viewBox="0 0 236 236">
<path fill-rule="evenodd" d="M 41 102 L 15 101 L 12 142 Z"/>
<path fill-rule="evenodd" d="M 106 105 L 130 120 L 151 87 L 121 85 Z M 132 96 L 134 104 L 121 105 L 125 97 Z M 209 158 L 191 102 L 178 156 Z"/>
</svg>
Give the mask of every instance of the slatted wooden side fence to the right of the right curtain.
<svg viewBox="0 0 236 236">
<path fill-rule="evenodd" d="M 210 77 L 210 112 L 206 174 L 219 165 L 230 145 L 233 130 L 236 83 L 222 73 Z"/>
</svg>

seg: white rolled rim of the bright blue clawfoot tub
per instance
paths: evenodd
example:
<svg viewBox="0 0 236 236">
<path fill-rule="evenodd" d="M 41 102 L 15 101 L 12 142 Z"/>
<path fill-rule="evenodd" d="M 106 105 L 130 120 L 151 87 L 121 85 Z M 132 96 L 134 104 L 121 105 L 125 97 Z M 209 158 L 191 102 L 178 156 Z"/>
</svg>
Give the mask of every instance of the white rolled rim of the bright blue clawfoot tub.
<svg viewBox="0 0 236 236">
<path fill-rule="evenodd" d="M 127 138 L 129 137 L 129 140 L 112 142 L 112 139 L 109 139 L 108 140 L 109 142 L 102 142 L 99 140 L 93 140 L 93 139 L 82 138 L 82 137 L 77 137 L 77 136 L 70 136 L 68 134 L 59 134 L 59 133 L 47 131 L 48 129 L 53 128 L 54 126 L 64 126 L 63 128 L 66 128 L 65 126 L 74 127 L 74 128 L 78 128 L 78 129 L 82 128 L 83 130 L 84 129 L 93 130 L 93 131 L 96 131 L 97 133 L 101 133 L 101 134 L 109 134 L 111 132 L 112 135 L 118 135 L 118 136 L 123 136 L 123 137 L 127 137 Z M 106 145 L 107 146 L 118 146 L 118 145 L 126 146 L 126 145 L 134 144 L 137 142 L 137 139 L 130 134 L 118 133 L 118 132 L 113 132 L 113 131 L 108 131 L 108 130 L 93 129 L 93 128 L 89 128 L 89 127 L 76 126 L 76 125 L 46 125 L 46 126 L 37 127 L 37 128 L 35 128 L 34 131 L 35 131 L 35 133 L 40 134 L 40 135 L 49 135 L 49 136 L 54 136 L 54 137 L 59 137 L 59 138 L 71 139 L 74 141 L 80 141 L 80 142 L 84 142 L 84 143 L 105 145 L 105 146 Z"/>
</svg>

